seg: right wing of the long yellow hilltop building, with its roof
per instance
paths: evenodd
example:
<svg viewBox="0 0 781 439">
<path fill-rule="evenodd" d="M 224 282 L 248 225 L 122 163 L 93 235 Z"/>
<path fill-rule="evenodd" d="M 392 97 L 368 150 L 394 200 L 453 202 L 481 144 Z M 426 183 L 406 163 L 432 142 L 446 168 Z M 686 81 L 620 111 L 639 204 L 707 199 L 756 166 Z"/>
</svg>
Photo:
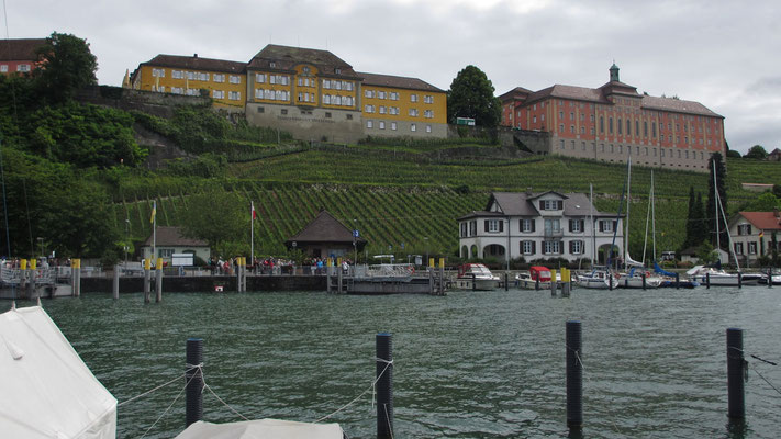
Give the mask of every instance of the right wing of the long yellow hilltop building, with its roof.
<svg viewBox="0 0 781 439">
<path fill-rule="evenodd" d="M 447 136 L 445 91 L 417 78 L 359 72 L 364 128 L 371 136 Z"/>
</svg>

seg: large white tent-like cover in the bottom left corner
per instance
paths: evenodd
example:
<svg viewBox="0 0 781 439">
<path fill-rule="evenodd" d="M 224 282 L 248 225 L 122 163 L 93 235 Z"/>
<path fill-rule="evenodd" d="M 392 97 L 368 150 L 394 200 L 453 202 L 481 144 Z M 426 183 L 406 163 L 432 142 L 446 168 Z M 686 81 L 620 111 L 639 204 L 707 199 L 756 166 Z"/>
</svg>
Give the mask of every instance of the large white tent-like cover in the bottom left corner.
<svg viewBox="0 0 781 439">
<path fill-rule="evenodd" d="M 0 389 L 4 438 L 116 438 L 116 399 L 41 306 L 0 315 Z"/>
</svg>

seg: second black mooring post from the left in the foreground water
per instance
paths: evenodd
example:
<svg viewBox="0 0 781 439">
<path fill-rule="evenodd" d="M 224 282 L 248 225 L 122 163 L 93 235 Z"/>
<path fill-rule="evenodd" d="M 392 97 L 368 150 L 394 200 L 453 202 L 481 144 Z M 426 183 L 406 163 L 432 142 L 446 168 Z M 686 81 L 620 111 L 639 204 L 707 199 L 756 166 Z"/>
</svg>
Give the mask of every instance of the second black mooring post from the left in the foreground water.
<svg viewBox="0 0 781 439">
<path fill-rule="evenodd" d="M 377 439 L 393 437 L 393 342 L 380 333 L 377 342 Z"/>
</svg>

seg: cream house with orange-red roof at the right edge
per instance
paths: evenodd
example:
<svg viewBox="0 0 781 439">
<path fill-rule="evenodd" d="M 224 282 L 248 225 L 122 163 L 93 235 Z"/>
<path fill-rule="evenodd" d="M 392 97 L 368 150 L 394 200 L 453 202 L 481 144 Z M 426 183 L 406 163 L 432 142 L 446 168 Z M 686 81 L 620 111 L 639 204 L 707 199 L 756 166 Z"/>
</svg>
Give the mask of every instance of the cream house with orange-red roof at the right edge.
<svg viewBox="0 0 781 439">
<path fill-rule="evenodd" d="M 733 250 L 741 264 L 755 264 L 762 256 L 781 252 L 781 214 L 773 212 L 738 212 L 729 221 Z M 730 260 L 733 262 L 733 260 Z"/>
</svg>

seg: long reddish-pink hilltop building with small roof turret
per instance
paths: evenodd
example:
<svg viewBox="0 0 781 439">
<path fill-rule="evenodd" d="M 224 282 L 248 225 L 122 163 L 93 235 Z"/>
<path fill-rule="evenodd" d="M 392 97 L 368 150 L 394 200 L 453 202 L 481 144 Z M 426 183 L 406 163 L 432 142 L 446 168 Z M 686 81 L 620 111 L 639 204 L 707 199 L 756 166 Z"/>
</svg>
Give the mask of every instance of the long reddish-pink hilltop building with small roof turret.
<svg viewBox="0 0 781 439">
<path fill-rule="evenodd" d="M 639 94 L 621 82 L 618 67 L 598 89 L 555 85 L 517 87 L 500 97 L 502 124 L 550 133 L 536 154 L 707 171 L 713 153 L 725 156 L 724 117 L 699 102 Z"/>
</svg>

